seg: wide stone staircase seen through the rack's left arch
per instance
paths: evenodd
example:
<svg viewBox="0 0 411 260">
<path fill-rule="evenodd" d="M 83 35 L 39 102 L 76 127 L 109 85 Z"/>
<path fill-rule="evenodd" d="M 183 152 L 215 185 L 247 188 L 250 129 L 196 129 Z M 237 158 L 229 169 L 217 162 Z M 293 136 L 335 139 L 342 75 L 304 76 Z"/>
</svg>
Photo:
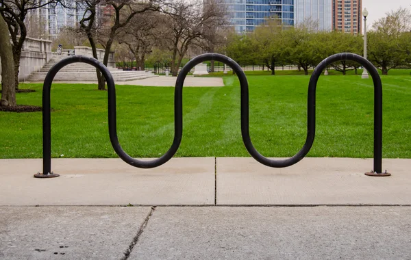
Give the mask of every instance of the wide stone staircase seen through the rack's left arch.
<svg viewBox="0 0 411 260">
<path fill-rule="evenodd" d="M 38 72 L 32 73 L 27 81 L 37 82 L 44 81 L 50 68 L 57 62 L 62 60 L 64 56 L 54 55 L 53 58 Z M 112 74 L 114 81 L 131 81 L 136 79 L 147 79 L 149 77 L 158 77 L 151 72 L 145 71 L 124 71 L 117 68 L 108 67 Z M 70 64 L 62 68 L 54 77 L 54 81 L 90 81 L 97 82 L 97 75 L 95 67 L 86 63 Z"/>
</svg>

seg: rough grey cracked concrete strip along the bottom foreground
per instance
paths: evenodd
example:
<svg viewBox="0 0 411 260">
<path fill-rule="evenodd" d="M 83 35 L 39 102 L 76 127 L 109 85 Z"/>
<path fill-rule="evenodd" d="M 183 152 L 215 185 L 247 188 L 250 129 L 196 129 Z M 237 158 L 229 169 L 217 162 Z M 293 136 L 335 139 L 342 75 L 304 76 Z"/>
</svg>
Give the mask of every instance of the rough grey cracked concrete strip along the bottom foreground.
<svg viewBox="0 0 411 260">
<path fill-rule="evenodd" d="M 0 207 L 0 259 L 410 259 L 411 207 Z"/>
</svg>

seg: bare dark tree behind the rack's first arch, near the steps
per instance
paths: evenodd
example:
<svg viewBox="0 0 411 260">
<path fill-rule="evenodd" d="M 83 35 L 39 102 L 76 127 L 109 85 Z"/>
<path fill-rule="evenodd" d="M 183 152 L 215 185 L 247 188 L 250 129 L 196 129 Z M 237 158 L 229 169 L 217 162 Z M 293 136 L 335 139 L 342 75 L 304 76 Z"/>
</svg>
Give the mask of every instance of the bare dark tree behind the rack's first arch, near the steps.
<svg viewBox="0 0 411 260">
<path fill-rule="evenodd" d="M 86 34 L 92 48 L 93 57 L 97 59 L 97 46 L 99 42 L 105 49 L 103 64 L 107 66 L 110 50 L 114 38 L 119 33 L 119 29 L 125 27 L 136 14 L 142 14 L 149 10 L 159 11 L 160 0 L 147 1 L 129 1 L 129 0 L 84 0 L 84 14 L 79 22 L 80 30 Z M 102 4 L 105 3 L 105 9 L 101 10 Z M 97 16 L 97 11 L 103 12 Z M 97 79 L 99 81 L 99 90 L 105 90 L 105 79 L 99 70 Z"/>
</svg>

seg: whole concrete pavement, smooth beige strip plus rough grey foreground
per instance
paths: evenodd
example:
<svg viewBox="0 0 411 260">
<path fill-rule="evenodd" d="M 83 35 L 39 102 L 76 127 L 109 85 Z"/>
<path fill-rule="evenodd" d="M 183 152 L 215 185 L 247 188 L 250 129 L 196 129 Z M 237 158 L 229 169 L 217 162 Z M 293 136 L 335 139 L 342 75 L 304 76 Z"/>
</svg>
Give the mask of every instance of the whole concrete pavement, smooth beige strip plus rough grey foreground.
<svg viewBox="0 0 411 260">
<path fill-rule="evenodd" d="M 391 177 L 347 158 L 53 159 L 54 179 L 33 178 L 41 159 L 0 165 L 0 259 L 411 257 L 411 159 L 384 159 Z"/>
</svg>

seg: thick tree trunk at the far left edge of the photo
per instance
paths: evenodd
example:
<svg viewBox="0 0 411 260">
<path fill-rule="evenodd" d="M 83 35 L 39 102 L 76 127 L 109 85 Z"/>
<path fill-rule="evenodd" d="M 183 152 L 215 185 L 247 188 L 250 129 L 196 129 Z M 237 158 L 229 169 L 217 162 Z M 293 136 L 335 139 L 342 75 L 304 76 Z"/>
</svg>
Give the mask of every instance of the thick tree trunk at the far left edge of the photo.
<svg viewBox="0 0 411 260">
<path fill-rule="evenodd" d="M 0 106 L 16 105 L 14 59 L 8 26 L 0 16 L 1 100 Z M 18 76 L 17 76 L 18 77 Z M 18 81 L 17 81 L 18 84 Z"/>
</svg>

